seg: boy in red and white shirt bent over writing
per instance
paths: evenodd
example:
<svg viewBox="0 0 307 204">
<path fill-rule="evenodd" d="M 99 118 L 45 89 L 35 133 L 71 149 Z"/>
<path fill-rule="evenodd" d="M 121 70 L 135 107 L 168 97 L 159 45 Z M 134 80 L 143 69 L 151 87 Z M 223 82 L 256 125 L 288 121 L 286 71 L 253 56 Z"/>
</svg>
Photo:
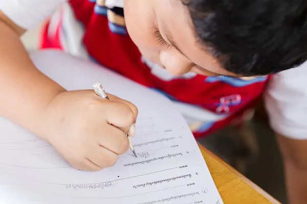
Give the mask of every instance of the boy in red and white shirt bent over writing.
<svg viewBox="0 0 307 204">
<path fill-rule="evenodd" d="M 64 2 L 1 0 L 0 114 L 50 142 L 74 167 L 100 170 L 128 149 L 137 108 L 92 90 L 64 90 L 34 67 L 18 40 Z M 47 24 L 42 48 L 95 59 L 163 92 L 196 137 L 242 115 L 265 90 L 289 200 L 304 203 L 306 34 L 303 0 L 71 0 Z"/>
</svg>

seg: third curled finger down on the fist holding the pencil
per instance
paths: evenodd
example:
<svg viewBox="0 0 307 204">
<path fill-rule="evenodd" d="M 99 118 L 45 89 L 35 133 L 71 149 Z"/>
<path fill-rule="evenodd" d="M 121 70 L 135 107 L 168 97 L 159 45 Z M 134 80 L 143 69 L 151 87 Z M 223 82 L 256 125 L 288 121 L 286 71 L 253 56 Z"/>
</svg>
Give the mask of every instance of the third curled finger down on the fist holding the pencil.
<svg viewBox="0 0 307 204">
<path fill-rule="evenodd" d="M 116 164 L 118 155 L 96 143 L 91 151 L 87 152 L 86 158 L 95 165 L 106 168 Z"/>
</svg>

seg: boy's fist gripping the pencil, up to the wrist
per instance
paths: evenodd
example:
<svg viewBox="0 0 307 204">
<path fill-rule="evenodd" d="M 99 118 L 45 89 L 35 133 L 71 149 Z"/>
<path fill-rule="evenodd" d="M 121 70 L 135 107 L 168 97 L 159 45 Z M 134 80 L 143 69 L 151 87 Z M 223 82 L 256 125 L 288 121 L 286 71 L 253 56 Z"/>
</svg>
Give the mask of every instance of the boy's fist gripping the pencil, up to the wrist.
<svg viewBox="0 0 307 204">
<path fill-rule="evenodd" d="M 48 105 L 42 137 L 73 167 L 101 170 L 113 166 L 129 147 L 126 136 L 138 109 L 126 100 L 93 90 L 65 91 Z M 134 131 L 132 131 L 134 132 Z"/>
</svg>

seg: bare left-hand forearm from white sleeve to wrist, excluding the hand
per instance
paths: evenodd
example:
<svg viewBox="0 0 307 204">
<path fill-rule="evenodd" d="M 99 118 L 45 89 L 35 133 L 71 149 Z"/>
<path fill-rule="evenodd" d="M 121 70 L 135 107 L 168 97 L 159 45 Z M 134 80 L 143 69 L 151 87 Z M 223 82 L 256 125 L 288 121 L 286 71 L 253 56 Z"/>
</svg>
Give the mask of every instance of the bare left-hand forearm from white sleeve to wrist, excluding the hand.
<svg viewBox="0 0 307 204">
<path fill-rule="evenodd" d="M 23 32 L 0 11 L 0 115 L 39 135 L 44 109 L 63 88 L 36 69 L 19 40 Z"/>
</svg>

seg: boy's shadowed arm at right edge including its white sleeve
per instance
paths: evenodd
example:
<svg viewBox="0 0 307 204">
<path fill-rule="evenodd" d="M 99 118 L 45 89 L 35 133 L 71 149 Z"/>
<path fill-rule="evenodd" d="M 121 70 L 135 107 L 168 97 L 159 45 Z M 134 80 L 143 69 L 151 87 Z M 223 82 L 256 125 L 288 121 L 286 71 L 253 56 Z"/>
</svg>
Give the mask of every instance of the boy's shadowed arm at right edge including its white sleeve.
<svg viewBox="0 0 307 204">
<path fill-rule="evenodd" d="M 307 200 L 307 63 L 272 77 L 265 102 L 282 153 L 289 203 Z"/>
</svg>

